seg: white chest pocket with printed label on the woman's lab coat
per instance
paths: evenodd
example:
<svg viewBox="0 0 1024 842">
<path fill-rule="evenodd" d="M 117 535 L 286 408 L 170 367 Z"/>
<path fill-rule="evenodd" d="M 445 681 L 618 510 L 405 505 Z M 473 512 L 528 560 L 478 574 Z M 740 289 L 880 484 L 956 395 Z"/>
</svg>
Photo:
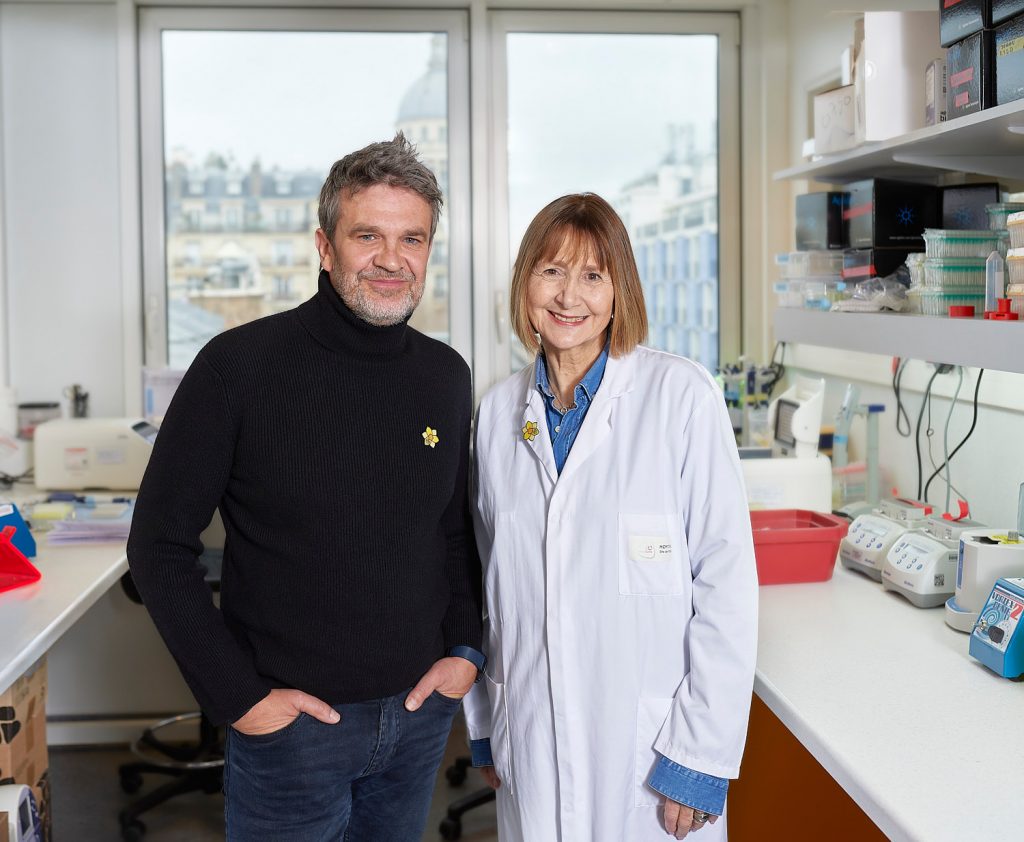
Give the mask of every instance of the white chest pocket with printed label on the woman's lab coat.
<svg viewBox="0 0 1024 842">
<path fill-rule="evenodd" d="M 678 514 L 618 513 L 618 592 L 683 593 L 686 545 Z"/>
</svg>

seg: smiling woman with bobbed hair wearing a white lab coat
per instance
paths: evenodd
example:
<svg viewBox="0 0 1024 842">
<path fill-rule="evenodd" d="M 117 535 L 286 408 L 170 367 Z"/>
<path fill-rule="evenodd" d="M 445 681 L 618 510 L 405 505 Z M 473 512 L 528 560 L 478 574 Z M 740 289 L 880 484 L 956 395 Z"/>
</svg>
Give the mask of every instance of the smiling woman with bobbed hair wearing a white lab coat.
<svg viewBox="0 0 1024 842">
<path fill-rule="evenodd" d="M 600 197 L 538 214 L 511 298 L 538 356 L 476 424 L 488 662 L 466 700 L 500 838 L 724 839 L 757 578 L 722 394 L 639 346 L 640 279 Z"/>
</svg>

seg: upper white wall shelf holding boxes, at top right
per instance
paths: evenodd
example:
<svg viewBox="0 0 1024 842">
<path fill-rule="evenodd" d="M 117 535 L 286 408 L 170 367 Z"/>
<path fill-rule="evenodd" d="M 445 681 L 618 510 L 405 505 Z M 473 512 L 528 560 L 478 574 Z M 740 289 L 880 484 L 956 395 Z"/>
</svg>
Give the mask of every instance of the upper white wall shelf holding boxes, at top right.
<svg viewBox="0 0 1024 842">
<path fill-rule="evenodd" d="M 810 178 L 841 184 L 861 178 L 972 172 L 1024 178 L 1024 99 L 969 114 L 909 134 L 865 143 L 775 173 L 776 180 Z"/>
</svg>

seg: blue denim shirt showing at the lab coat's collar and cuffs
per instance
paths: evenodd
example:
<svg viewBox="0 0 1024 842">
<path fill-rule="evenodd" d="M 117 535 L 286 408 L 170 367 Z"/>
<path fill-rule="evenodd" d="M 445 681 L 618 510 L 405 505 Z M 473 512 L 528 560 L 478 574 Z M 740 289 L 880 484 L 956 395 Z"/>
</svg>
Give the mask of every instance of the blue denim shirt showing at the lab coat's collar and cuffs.
<svg viewBox="0 0 1024 842">
<path fill-rule="evenodd" d="M 590 371 L 584 375 L 572 393 L 573 406 L 559 412 L 555 409 L 555 398 L 548 380 L 548 368 L 544 355 L 538 354 L 535 368 L 537 388 L 544 395 L 544 406 L 547 410 L 548 433 L 551 435 L 551 449 L 555 454 L 555 466 L 558 473 L 562 472 L 572 443 L 587 417 L 587 410 L 597 394 L 604 377 L 604 367 L 608 362 L 608 346 L 605 345 L 601 355 L 597 357 Z M 469 742 L 474 766 L 493 766 L 495 761 L 490 755 L 490 740 L 471 740 Z M 657 764 L 650 775 L 647 785 L 662 795 L 685 804 L 694 809 L 703 810 L 714 815 L 721 815 L 725 809 L 725 795 L 729 789 L 729 781 L 712 774 L 689 769 L 675 763 L 664 755 L 658 755 Z"/>
</svg>

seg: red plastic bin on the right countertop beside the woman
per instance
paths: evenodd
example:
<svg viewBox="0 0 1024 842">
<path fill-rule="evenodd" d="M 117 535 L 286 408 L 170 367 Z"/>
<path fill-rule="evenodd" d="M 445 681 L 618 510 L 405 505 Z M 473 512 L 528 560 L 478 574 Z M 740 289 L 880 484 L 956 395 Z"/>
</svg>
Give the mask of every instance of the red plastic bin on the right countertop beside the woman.
<svg viewBox="0 0 1024 842">
<path fill-rule="evenodd" d="M 807 509 L 752 511 L 759 582 L 787 585 L 831 579 L 847 527 L 842 517 Z"/>
</svg>

